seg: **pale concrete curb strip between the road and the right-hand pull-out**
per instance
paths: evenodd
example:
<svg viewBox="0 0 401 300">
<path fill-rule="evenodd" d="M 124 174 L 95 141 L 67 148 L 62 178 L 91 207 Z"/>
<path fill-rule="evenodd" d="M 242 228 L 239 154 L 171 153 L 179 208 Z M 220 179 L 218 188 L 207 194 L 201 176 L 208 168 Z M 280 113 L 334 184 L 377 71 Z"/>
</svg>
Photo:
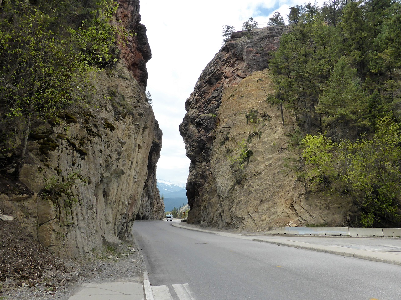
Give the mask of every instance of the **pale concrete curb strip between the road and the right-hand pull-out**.
<svg viewBox="0 0 401 300">
<path fill-rule="evenodd" d="M 323 253 L 328 253 L 328 254 L 334 254 L 334 255 L 341 255 L 341 256 L 347 256 L 347 257 L 354 257 L 354 258 L 360 258 L 364 260 L 371 260 L 373 262 L 384 262 L 386 264 L 395 264 L 398 266 L 401 266 L 401 262 L 397 260 L 389 260 L 385 258 L 377 258 L 373 256 L 368 256 L 364 254 L 358 254 L 358 253 L 352 253 L 352 252 L 344 252 L 344 251 L 339 251 L 339 250 L 332 250 L 332 249 L 325 249 L 323 247 L 311 247 L 311 246 L 304 246 L 304 245 L 299 245 L 299 244 L 290 244 L 287 242 L 277 242 L 277 241 L 269 241 L 269 240 L 261 240 L 258 238 L 252 239 L 255 242 L 262 242 L 262 243 L 267 243 L 267 244 L 274 244 L 274 245 L 279 245 L 279 246 L 286 246 L 286 247 L 292 247 L 292 248 L 297 248 L 297 249 L 304 249 L 304 250 L 312 250 L 312 251 L 317 251 L 317 252 L 323 252 Z"/>
</svg>

